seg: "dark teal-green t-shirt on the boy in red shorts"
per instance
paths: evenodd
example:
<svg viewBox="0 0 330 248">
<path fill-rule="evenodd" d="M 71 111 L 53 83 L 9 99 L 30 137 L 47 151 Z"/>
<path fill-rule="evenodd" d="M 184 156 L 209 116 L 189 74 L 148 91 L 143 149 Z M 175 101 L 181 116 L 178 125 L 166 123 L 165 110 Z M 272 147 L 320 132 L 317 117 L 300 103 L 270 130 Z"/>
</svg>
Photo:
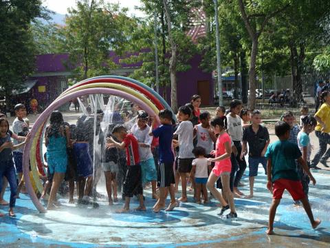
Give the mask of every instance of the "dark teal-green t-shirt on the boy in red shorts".
<svg viewBox="0 0 330 248">
<path fill-rule="evenodd" d="M 299 180 L 296 159 L 301 152 L 298 145 L 289 141 L 276 141 L 267 147 L 266 158 L 272 159 L 272 182 L 284 178 Z"/>
</svg>

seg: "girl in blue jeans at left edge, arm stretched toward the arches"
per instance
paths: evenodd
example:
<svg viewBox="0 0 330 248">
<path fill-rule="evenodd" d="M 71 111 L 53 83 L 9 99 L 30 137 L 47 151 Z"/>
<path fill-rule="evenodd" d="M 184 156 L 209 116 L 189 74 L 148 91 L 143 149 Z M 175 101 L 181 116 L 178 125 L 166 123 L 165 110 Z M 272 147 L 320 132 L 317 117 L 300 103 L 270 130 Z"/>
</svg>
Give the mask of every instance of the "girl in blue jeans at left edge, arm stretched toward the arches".
<svg viewBox="0 0 330 248">
<path fill-rule="evenodd" d="M 4 176 L 10 185 L 9 216 L 15 217 L 14 207 L 17 196 L 17 178 L 14 163 L 12 162 L 12 150 L 19 149 L 25 142 L 19 145 L 12 145 L 8 131 L 9 123 L 7 119 L 0 118 L 0 192 L 2 190 Z M 0 213 L 0 216 L 3 216 L 3 214 Z"/>
</svg>

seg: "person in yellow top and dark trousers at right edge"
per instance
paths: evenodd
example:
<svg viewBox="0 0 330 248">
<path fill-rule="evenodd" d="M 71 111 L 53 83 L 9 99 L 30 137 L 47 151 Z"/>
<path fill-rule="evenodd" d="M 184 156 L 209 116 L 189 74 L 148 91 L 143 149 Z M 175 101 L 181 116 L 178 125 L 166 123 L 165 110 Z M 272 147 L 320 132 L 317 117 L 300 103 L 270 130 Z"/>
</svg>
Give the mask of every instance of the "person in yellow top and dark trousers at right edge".
<svg viewBox="0 0 330 248">
<path fill-rule="evenodd" d="M 327 145 L 330 144 L 330 92 L 322 92 L 320 99 L 322 105 L 314 116 L 316 121 L 318 121 L 318 125 L 315 127 L 315 134 L 320 144 L 318 152 L 315 154 L 313 161 L 311 161 L 311 168 L 315 169 L 320 169 L 317 167 L 318 162 L 321 162 L 327 167 L 327 158 L 330 156 L 330 149 L 327 151 Z M 327 153 L 325 154 L 326 151 Z"/>
</svg>

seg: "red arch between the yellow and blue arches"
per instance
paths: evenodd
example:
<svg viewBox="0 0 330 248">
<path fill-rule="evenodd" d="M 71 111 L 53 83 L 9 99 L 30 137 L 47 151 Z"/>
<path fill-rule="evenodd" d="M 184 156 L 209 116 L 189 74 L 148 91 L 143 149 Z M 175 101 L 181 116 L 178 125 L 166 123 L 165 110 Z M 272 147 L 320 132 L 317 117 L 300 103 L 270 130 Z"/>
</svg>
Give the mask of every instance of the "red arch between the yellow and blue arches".
<svg viewBox="0 0 330 248">
<path fill-rule="evenodd" d="M 91 79 L 91 80 L 85 81 L 83 83 L 77 83 L 77 84 L 73 85 L 72 87 L 70 87 L 69 89 L 79 87 L 79 86 L 82 86 L 82 85 L 87 85 L 87 84 L 90 84 L 90 83 L 118 83 L 120 85 L 131 87 L 134 90 L 137 90 L 137 91 L 141 92 L 142 94 L 144 94 L 145 96 L 147 96 L 148 99 L 150 99 L 151 102 L 156 105 L 158 110 L 164 110 L 164 106 L 162 105 L 162 103 L 160 103 L 159 100 L 153 94 L 151 94 L 150 92 L 145 90 L 143 87 L 140 87 L 139 85 L 136 85 L 135 83 L 131 83 L 129 81 L 125 81 L 125 80 L 122 80 L 122 79 L 112 79 L 112 78 L 111 79 L 107 79 L 107 78 Z"/>
</svg>

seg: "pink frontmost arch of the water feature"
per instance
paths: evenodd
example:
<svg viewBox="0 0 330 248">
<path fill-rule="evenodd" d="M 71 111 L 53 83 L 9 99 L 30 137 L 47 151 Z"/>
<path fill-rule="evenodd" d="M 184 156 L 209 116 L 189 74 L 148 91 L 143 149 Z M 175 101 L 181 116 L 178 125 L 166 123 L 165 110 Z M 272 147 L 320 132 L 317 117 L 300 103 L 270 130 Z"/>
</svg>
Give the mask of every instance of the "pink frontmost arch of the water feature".
<svg viewBox="0 0 330 248">
<path fill-rule="evenodd" d="M 157 114 L 153 112 L 151 107 L 149 107 L 146 103 L 141 101 L 140 99 L 137 99 L 135 96 L 132 96 L 131 94 L 128 94 L 126 92 L 121 92 L 120 90 L 114 90 L 110 88 L 90 88 L 85 90 L 79 90 L 78 92 L 72 92 L 70 94 L 67 94 L 66 96 L 63 96 L 61 99 L 58 99 L 54 101 L 47 109 L 37 118 L 36 122 L 34 123 L 32 130 L 31 130 L 31 137 L 36 136 L 36 133 L 41 125 L 47 121 L 48 116 L 52 113 L 52 111 L 56 110 L 58 107 L 61 107 L 64 103 L 67 103 L 71 99 L 74 99 L 79 96 L 83 96 L 86 94 L 111 94 L 114 96 L 120 96 L 124 99 L 127 99 L 129 101 L 132 101 L 133 103 L 137 103 L 137 105 L 140 105 L 143 110 L 148 112 L 148 114 L 155 115 L 157 118 Z M 36 194 L 32 188 L 30 176 L 29 176 L 29 158 L 30 158 L 30 150 L 32 147 L 32 140 L 28 139 L 26 141 L 25 147 L 24 147 L 24 153 L 23 153 L 23 175 L 25 178 L 25 186 L 28 189 L 28 193 L 30 194 L 30 198 L 32 200 L 32 203 L 34 203 L 34 206 L 36 206 L 36 209 L 38 209 L 41 213 L 45 212 L 45 208 L 41 203 L 39 202 L 39 199 L 36 197 Z M 35 155 L 34 155 L 35 156 Z"/>
</svg>

